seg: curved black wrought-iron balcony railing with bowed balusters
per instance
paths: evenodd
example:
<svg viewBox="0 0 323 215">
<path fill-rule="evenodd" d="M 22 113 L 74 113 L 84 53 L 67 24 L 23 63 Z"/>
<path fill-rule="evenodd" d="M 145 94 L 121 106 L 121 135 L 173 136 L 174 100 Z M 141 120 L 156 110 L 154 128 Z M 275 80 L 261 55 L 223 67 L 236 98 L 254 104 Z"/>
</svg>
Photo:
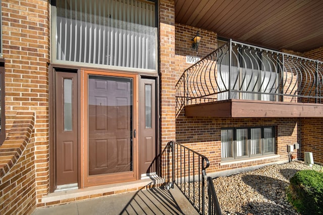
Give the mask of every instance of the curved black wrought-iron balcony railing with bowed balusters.
<svg viewBox="0 0 323 215">
<path fill-rule="evenodd" d="M 230 40 L 184 71 L 176 110 L 227 99 L 321 103 L 322 84 L 321 61 Z"/>
</svg>

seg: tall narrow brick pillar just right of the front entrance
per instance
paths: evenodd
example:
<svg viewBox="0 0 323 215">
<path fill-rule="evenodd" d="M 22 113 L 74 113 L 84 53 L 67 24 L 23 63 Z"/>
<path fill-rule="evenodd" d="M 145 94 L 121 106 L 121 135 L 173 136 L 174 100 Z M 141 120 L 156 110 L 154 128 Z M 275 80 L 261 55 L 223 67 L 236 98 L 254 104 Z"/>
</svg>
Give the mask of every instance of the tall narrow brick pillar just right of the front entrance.
<svg viewBox="0 0 323 215">
<path fill-rule="evenodd" d="M 160 46 L 160 135 L 161 173 L 169 176 L 165 151 L 167 143 L 175 140 L 175 3 L 172 0 L 159 1 L 159 46 Z M 169 178 L 168 178 L 169 180 Z"/>
</svg>

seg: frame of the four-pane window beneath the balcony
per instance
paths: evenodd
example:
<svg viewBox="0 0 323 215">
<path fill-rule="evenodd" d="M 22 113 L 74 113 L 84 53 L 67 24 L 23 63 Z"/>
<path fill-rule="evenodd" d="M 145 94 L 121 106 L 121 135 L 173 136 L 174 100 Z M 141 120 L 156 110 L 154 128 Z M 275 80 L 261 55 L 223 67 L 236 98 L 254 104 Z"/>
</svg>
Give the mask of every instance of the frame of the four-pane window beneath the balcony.
<svg viewBox="0 0 323 215">
<path fill-rule="evenodd" d="M 251 155 L 251 129 L 260 128 L 260 150 L 261 153 Z M 264 129 L 271 128 L 272 129 L 272 140 L 273 140 L 273 151 L 264 153 Z M 238 129 L 246 129 L 247 130 L 247 155 L 238 156 L 237 152 L 237 130 Z M 233 157 L 222 158 L 222 130 L 232 130 L 233 138 L 231 142 L 231 149 L 233 150 Z M 276 154 L 276 129 L 275 126 L 250 126 L 250 127 L 224 127 L 221 128 L 221 161 L 232 161 L 232 160 L 243 160 L 248 158 L 256 158 L 268 155 Z"/>
</svg>

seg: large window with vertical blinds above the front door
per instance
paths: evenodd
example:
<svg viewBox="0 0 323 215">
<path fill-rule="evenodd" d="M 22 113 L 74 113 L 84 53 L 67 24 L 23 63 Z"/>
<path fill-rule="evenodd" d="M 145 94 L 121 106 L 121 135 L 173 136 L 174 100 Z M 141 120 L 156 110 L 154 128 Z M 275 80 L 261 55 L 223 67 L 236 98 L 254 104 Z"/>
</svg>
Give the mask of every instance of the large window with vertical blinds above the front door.
<svg viewBox="0 0 323 215">
<path fill-rule="evenodd" d="M 53 62 L 156 69 L 155 3 L 57 0 Z"/>
</svg>

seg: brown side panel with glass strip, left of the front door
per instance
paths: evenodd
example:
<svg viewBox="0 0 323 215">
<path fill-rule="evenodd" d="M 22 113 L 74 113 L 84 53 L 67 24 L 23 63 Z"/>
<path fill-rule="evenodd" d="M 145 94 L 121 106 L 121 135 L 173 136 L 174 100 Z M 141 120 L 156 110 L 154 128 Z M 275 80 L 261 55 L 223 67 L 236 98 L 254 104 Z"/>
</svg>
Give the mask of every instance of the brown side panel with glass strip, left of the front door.
<svg viewBox="0 0 323 215">
<path fill-rule="evenodd" d="M 57 185 L 78 182 L 77 74 L 56 72 Z"/>
</svg>

